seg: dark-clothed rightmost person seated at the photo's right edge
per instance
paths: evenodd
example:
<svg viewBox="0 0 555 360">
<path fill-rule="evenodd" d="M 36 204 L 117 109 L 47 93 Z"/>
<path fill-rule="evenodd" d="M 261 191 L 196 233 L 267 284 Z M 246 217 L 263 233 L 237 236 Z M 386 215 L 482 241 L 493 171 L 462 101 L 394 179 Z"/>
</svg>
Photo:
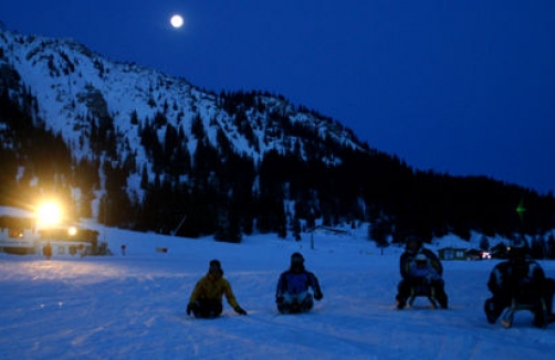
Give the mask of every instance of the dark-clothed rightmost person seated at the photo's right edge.
<svg viewBox="0 0 555 360">
<path fill-rule="evenodd" d="M 484 311 L 490 324 L 495 324 L 503 310 L 513 305 L 527 305 L 534 325 L 545 327 L 555 321 L 552 314 L 555 280 L 545 277 L 540 264 L 527 260 L 523 243 L 509 250 L 509 260 L 495 265 L 490 273 L 488 288 L 493 296 L 485 300 Z M 510 325 L 509 325 L 510 326 Z"/>
</svg>

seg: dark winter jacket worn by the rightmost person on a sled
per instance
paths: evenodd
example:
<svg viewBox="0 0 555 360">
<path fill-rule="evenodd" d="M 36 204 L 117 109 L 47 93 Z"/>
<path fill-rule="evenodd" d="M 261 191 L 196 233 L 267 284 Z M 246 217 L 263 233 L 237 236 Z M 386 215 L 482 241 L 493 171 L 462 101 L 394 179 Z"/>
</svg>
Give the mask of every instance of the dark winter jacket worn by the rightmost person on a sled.
<svg viewBox="0 0 555 360">
<path fill-rule="evenodd" d="M 526 301 L 537 298 L 545 284 L 545 273 L 538 263 L 526 260 L 522 263 L 502 262 L 495 265 L 488 280 L 494 295 Z"/>
</svg>

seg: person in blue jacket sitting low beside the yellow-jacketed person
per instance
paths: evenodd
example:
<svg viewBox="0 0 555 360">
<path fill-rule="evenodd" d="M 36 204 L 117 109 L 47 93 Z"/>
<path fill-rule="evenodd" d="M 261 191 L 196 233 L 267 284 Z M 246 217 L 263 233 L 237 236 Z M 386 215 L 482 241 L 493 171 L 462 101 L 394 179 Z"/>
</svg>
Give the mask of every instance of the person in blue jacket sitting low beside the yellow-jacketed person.
<svg viewBox="0 0 555 360">
<path fill-rule="evenodd" d="M 308 289 L 312 288 L 314 295 Z M 314 301 L 324 295 L 316 276 L 304 268 L 304 257 L 300 253 L 291 255 L 289 271 L 280 275 L 275 290 L 275 303 L 281 314 L 305 313 L 312 309 Z"/>
</svg>

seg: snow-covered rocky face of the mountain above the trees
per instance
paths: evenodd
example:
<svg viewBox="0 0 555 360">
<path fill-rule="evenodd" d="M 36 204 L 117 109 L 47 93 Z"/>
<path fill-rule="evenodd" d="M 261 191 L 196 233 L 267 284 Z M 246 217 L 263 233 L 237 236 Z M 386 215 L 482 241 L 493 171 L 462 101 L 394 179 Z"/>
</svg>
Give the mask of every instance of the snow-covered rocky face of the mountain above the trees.
<svg viewBox="0 0 555 360">
<path fill-rule="evenodd" d="M 224 96 L 155 70 L 109 61 L 71 39 L 22 35 L 0 29 L 0 85 L 10 88 L 12 95 L 21 97 L 27 93 L 36 97 L 34 115 L 55 133 L 62 133 L 77 157 L 91 152 L 87 141 L 83 141 L 91 118 L 113 121 L 123 157 L 123 151 L 143 152 L 136 141 L 138 127 L 143 121 L 153 121 L 157 114 L 164 114 L 168 125 L 184 130 L 192 150 L 196 138 L 191 123 L 199 116 L 212 145 L 217 144 L 218 129 L 222 129 L 235 151 L 255 159 L 271 149 L 293 151 L 297 141 L 303 142 L 299 135 L 283 135 L 284 118 L 317 134 L 322 140 L 328 138 L 362 148 L 350 130 L 313 112 L 299 110 L 281 96 L 244 94 L 229 108 Z M 135 124 L 132 114 L 138 118 Z M 164 125 L 158 124 L 160 139 Z M 245 137 L 245 127 L 252 128 L 253 138 Z M 304 151 L 302 144 L 299 148 Z"/>
</svg>

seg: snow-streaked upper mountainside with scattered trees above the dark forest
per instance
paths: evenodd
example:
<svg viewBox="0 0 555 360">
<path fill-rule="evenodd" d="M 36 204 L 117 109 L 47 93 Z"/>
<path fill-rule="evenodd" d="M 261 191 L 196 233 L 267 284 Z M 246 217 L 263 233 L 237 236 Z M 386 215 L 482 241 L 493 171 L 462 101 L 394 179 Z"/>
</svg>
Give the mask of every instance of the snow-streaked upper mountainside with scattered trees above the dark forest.
<svg viewBox="0 0 555 360">
<path fill-rule="evenodd" d="M 71 39 L 0 29 L 0 91 L 6 89 L 9 102 L 19 103 L 35 125 L 63 138 L 72 168 L 82 159 L 96 163 L 101 182 L 104 165 L 125 168 L 126 192 L 138 203 L 145 182 L 170 176 L 172 186 L 187 182 L 197 170 L 187 163 L 199 163 L 198 148 L 211 148 L 212 160 L 214 152 L 220 159 L 232 152 L 254 166 L 269 151 L 325 166 L 343 161 L 338 149 L 375 153 L 339 123 L 284 96 L 216 94 L 156 70 L 111 61 Z M 200 177 L 206 179 L 213 165 L 207 171 Z M 95 215 L 105 183 L 100 189 Z"/>
</svg>

